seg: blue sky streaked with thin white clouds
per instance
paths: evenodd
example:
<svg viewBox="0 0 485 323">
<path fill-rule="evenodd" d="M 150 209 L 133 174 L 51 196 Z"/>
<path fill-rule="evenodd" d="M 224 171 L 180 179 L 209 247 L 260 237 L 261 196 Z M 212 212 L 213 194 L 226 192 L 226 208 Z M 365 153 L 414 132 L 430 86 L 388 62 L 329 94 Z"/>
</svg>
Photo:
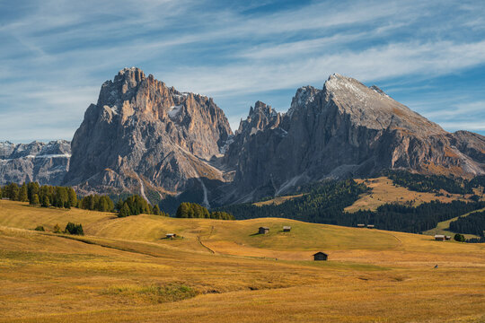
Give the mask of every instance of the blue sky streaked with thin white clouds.
<svg viewBox="0 0 485 323">
<path fill-rule="evenodd" d="M 71 140 L 126 66 L 214 98 L 233 130 L 339 73 L 485 135 L 482 0 L 0 0 L 0 44 L 0 141 Z"/>
</svg>

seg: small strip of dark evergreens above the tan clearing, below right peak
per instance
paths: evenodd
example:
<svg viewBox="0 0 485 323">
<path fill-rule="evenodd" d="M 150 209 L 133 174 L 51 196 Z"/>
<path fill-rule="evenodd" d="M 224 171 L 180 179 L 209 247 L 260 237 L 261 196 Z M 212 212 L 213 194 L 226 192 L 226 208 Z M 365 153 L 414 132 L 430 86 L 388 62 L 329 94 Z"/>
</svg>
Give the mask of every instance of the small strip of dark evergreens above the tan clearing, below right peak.
<svg viewBox="0 0 485 323">
<path fill-rule="evenodd" d="M 453 194 L 473 193 L 469 182 L 461 178 L 414 174 L 406 170 L 385 170 L 383 175 L 392 179 L 394 184 L 417 192 L 437 193 L 440 189 L 445 189 L 446 192 Z"/>
</svg>

